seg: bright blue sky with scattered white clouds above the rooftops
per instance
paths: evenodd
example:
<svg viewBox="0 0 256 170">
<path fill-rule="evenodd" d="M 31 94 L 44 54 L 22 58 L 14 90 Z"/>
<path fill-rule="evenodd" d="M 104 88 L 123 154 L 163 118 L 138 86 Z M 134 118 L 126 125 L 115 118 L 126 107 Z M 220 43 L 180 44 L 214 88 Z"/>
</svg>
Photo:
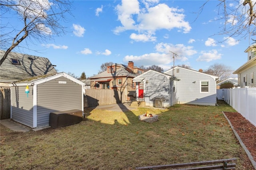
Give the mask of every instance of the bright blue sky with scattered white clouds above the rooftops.
<svg viewBox="0 0 256 170">
<path fill-rule="evenodd" d="M 198 15 L 204 2 L 75 0 L 73 17 L 62 23 L 67 27 L 66 35 L 43 44 L 28 42 L 30 49 L 40 53 L 26 48 L 13 51 L 47 57 L 59 72 L 78 77 L 82 72 L 86 77 L 96 75 L 100 65 L 110 61 L 158 65 L 166 71 L 173 65 L 170 51 L 178 55 L 175 65 L 206 70 L 220 63 L 236 70 L 247 61 L 244 50 L 252 42 L 249 38 L 222 42 L 228 36 L 219 35 L 224 26 L 224 20 L 218 20 L 222 17 L 218 14 L 220 2 L 209 1 Z M 233 1 L 227 5 L 234 5 Z M 26 42 L 22 43 L 25 46 Z"/>
</svg>

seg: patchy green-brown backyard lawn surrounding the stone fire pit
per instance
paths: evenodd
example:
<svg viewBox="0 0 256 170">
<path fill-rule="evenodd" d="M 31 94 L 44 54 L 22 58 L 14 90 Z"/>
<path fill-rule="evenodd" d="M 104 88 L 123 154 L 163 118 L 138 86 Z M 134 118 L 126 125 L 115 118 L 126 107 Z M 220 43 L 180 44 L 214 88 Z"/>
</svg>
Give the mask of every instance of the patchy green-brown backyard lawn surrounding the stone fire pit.
<svg viewBox="0 0 256 170">
<path fill-rule="evenodd" d="M 138 120 L 159 115 L 154 123 Z M 165 110 L 139 108 L 110 112 L 86 109 L 76 125 L 36 132 L 12 132 L 1 126 L 1 169 L 135 169 L 183 162 L 238 158 L 245 152 L 219 106 L 174 105 Z"/>
</svg>

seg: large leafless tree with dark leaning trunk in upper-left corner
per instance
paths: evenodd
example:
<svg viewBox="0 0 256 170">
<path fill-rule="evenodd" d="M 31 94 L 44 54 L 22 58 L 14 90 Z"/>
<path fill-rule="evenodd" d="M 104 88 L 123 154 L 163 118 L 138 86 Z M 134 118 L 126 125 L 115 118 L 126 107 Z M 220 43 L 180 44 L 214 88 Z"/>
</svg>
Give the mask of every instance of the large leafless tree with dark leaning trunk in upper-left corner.
<svg viewBox="0 0 256 170">
<path fill-rule="evenodd" d="M 67 21 L 65 14 L 70 14 L 71 8 L 71 2 L 62 0 L 1 0 L 1 18 L 14 15 L 20 23 L 10 27 L 1 20 L 0 45 L 6 53 L 0 65 L 23 40 L 46 42 L 64 34 L 65 27 L 60 22 Z"/>
</svg>

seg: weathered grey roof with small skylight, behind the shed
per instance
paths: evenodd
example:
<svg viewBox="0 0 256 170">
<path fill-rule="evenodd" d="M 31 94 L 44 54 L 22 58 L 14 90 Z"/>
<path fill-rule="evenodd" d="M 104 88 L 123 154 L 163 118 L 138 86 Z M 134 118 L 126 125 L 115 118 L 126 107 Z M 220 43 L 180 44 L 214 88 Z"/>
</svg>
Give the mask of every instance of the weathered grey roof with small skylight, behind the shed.
<svg viewBox="0 0 256 170">
<path fill-rule="evenodd" d="M 0 50 L 1 58 L 5 51 Z M 13 64 L 17 59 L 20 64 Z M 0 82 L 13 82 L 28 77 L 57 73 L 48 58 L 10 52 L 0 66 Z"/>
</svg>

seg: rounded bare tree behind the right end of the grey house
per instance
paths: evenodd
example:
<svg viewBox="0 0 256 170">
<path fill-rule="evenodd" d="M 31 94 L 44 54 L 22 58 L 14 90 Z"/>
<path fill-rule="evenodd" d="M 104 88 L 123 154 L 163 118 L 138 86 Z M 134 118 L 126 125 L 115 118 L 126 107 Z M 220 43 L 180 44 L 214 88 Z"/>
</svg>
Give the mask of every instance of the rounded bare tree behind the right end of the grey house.
<svg viewBox="0 0 256 170">
<path fill-rule="evenodd" d="M 206 71 L 204 71 L 204 73 L 218 76 L 218 82 L 221 82 L 230 77 L 232 70 L 230 69 L 230 67 L 224 64 L 215 63 L 213 65 L 210 65 L 210 67 Z"/>
</svg>

